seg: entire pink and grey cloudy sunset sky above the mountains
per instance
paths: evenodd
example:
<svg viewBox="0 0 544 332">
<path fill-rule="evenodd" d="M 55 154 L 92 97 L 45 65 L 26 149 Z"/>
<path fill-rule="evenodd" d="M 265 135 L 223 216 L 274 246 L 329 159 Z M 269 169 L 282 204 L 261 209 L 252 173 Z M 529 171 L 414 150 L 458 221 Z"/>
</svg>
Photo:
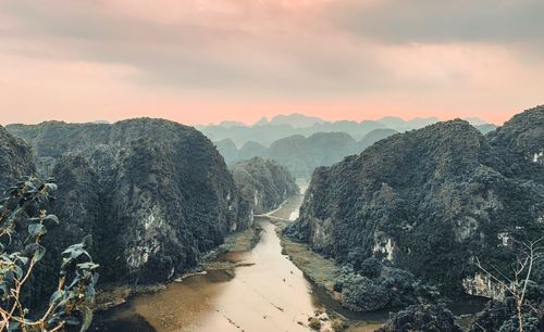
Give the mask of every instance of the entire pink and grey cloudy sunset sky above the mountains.
<svg viewBox="0 0 544 332">
<path fill-rule="evenodd" d="M 0 0 L 0 124 L 544 103 L 542 0 Z"/>
</svg>

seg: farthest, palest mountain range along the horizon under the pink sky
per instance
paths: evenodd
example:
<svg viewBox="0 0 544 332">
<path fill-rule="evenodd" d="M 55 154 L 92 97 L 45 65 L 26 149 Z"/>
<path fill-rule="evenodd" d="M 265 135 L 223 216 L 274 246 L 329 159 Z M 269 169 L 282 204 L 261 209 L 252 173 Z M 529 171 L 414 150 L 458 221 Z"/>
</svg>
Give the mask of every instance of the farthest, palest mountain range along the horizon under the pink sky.
<svg viewBox="0 0 544 332">
<path fill-rule="evenodd" d="M 480 118 L 466 118 L 466 120 L 483 133 L 496 128 L 495 125 Z M 393 116 L 383 117 L 378 120 L 327 122 L 319 117 L 294 113 L 289 115 L 276 115 L 270 120 L 263 117 L 254 125 L 246 125 L 239 122 L 222 122 L 219 125 L 197 126 L 197 129 L 202 131 L 212 141 L 231 139 L 237 146 L 242 146 L 249 141 L 269 146 L 279 139 L 294 135 L 309 137 L 316 132 L 345 132 L 355 140 L 361 140 L 366 135 L 375 129 L 393 129 L 404 132 L 420 129 L 438 122 L 440 119 L 436 117 L 405 120 Z"/>
</svg>

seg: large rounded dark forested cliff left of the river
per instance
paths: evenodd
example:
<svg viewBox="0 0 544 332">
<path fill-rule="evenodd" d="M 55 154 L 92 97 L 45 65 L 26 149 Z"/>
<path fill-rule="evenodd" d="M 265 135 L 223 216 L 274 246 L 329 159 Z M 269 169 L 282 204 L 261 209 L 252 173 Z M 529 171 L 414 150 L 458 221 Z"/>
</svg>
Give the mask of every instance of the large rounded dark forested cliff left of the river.
<svg viewBox="0 0 544 332">
<path fill-rule="evenodd" d="M 166 280 L 252 222 L 223 158 L 194 128 L 146 118 L 10 130 L 54 161 L 59 237 L 91 233 L 104 281 Z"/>
</svg>

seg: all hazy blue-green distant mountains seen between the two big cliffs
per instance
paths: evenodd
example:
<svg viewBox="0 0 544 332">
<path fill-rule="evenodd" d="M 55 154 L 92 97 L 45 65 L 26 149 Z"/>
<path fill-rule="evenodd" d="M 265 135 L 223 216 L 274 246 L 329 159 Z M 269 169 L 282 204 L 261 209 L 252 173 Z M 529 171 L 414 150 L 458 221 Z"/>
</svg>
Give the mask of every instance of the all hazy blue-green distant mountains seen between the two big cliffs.
<svg viewBox="0 0 544 332">
<path fill-rule="evenodd" d="M 468 120 L 483 133 L 496 128 L 479 118 Z M 381 139 L 437 122 L 435 117 L 404 120 L 390 116 L 376 122 L 330 123 L 292 114 L 277 115 L 270 122 L 262 118 L 252 126 L 225 122 L 200 129 L 212 140 L 225 137 L 215 140 L 215 145 L 227 164 L 264 156 L 280 162 L 296 177 L 309 178 L 316 167 L 331 166 Z M 275 140 L 267 144 L 272 139 Z"/>
</svg>

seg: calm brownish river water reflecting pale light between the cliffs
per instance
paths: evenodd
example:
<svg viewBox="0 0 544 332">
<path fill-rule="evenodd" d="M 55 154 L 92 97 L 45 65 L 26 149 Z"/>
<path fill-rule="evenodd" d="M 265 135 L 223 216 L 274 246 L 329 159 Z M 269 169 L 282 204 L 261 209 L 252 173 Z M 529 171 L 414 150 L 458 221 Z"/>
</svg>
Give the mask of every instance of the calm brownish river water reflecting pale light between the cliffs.
<svg viewBox="0 0 544 332">
<path fill-rule="evenodd" d="M 302 196 L 289 200 L 273 215 L 294 219 Z M 236 268 L 231 278 L 223 271 L 172 283 L 164 292 L 140 295 L 127 304 L 98 315 L 98 331 L 279 332 L 308 331 L 308 317 L 327 308 L 357 321 L 383 321 L 387 312 L 354 314 L 343 309 L 325 292 L 309 282 L 282 255 L 280 239 L 267 217 L 257 217 L 263 231 L 250 252 L 231 253 L 227 259 L 254 265 Z M 457 304 L 459 306 L 459 304 Z M 465 305 L 460 305 L 467 308 Z M 473 311 L 473 308 L 470 309 Z M 372 331 L 359 325 L 350 331 Z"/>
</svg>

